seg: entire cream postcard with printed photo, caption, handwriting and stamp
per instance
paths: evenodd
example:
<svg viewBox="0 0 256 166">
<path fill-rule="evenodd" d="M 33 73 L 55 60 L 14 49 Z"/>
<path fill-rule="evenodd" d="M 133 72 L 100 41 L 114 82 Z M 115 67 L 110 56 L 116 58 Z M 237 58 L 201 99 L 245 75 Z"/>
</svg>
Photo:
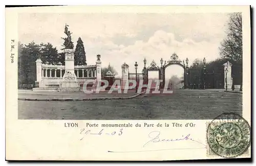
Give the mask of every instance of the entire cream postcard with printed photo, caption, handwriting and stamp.
<svg viewBox="0 0 256 166">
<path fill-rule="evenodd" d="M 6 8 L 6 160 L 251 157 L 250 6 Z"/>
</svg>

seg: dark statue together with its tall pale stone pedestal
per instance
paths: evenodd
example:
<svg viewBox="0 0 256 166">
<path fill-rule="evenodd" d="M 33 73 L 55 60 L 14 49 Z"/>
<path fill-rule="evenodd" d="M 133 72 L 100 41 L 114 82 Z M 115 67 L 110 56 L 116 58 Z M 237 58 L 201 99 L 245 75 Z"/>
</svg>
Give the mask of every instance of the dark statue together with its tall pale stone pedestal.
<svg viewBox="0 0 256 166">
<path fill-rule="evenodd" d="M 75 74 L 75 66 L 74 66 L 74 45 L 71 41 L 71 34 L 70 31 L 68 31 L 68 26 L 65 25 L 65 31 L 64 33 L 67 35 L 67 38 L 62 38 L 65 40 L 64 42 L 64 52 L 65 52 L 65 73 L 63 75 L 63 81 L 60 82 L 60 88 L 61 89 L 68 89 L 68 90 L 75 90 L 79 89 L 80 86 L 77 81 L 77 77 Z"/>
</svg>

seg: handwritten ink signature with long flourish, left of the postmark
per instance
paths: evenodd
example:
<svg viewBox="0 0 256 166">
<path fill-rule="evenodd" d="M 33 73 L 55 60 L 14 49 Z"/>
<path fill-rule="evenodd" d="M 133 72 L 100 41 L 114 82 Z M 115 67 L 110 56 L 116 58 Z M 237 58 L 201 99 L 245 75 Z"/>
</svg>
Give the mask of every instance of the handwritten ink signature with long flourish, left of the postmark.
<svg viewBox="0 0 256 166">
<path fill-rule="evenodd" d="M 193 140 L 190 138 L 190 134 L 187 134 L 187 135 L 182 135 L 180 138 L 178 139 L 160 139 L 160 131 L 152 131 L 148 134 L 148 137 L 150 137 L 150 141 L 146 142 L 144 145 L 143 145 L 143 148 L 150 144 L 150 143 L 159 143 L 159 142 L 177 142 L 177 141 L 194 141 L 194 142 L 197 142 L 199 144 L 202 144 L 201 142 L 199 141 L 196 141 L 196 140 Z M 202 144 L 204 145 L 204 144 Z M 205 145 L 204 145 L 205 146 Z M 206 147 L 206 146 L 205 146 Z"/>
</svg>

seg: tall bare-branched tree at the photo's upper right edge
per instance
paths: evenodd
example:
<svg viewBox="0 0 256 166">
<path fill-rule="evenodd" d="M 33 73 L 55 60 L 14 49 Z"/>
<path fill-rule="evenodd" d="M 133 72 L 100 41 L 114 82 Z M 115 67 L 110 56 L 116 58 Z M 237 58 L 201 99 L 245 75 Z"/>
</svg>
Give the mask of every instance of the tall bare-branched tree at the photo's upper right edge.
<svg viewBox="0 0 256 166">
<path fill-rule="evenodd" d="M 220 46 L 220 54 L 226 60 L 240 61 L 243 57 L 242 14 L 229 15 L 227 37 Z"/>
</svg>

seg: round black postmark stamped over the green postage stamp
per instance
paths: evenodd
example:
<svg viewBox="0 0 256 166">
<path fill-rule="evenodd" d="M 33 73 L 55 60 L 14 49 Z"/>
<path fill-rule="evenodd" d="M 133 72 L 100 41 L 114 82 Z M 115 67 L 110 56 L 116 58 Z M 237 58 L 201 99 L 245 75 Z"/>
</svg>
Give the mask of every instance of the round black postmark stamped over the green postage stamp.
<svg viewBox="0 0 256 166">
<path fill-rule="evenodd" d="M 210 150 L 222 157 L 237 157 L 245 153 L 250 140 L 250 125 L 238 114 L 223 113 L 207 128 Z"/>
</svg>

